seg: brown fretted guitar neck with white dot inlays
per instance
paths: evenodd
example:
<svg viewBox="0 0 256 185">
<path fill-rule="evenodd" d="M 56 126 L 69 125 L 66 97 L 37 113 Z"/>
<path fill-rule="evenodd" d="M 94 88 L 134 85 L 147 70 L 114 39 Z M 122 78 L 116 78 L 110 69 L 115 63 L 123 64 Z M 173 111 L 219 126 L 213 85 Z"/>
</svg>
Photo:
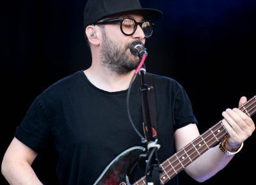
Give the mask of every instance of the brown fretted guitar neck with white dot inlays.
<svg viewBox="0 0 256 185">
<path fill-rule="evenodd" d="M 256 112 L 256 96 L 239 107 L 245 114 L 252 116 Z M 160 175 L 161 184 L 170 181 L 175 175 L 179 174 L 186 166 L 195 161 L 196 158 L 204 154 L 208 149 L 218 144 L 226 135 L 227 131 L 222 121 L 217 122 L 214 126 L 207 129 L 202 135 L 195 138 L 188 145 L 173 154 L 170 158 L 161 163 L 163 172 Z M 137 181 L 136 185 L 145 184 L 145 176 Z"/>
</svg>

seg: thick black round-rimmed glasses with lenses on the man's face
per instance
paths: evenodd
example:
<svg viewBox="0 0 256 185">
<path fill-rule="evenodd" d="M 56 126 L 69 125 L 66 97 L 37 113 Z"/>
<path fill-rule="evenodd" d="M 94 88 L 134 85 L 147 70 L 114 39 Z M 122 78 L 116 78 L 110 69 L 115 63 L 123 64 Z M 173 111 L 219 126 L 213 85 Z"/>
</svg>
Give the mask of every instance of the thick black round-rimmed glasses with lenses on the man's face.
<svg viewBox="0 0 256 185">
<path fill-rule="evenodd" d="M 120 29 L 123 34 L 130 36 L 135 33 L 137 26 L 140 25 L 145 37 L 148 38 L 152 36 L 153 33 L 153 23 L 150 20 L 143 20 L 142 22 L 136 22 L 133 18 L 108 18 L 104 20 L 99 20 L 95 24 L 108 24 L 112 22 L 120 22 Z"/>
</svg>

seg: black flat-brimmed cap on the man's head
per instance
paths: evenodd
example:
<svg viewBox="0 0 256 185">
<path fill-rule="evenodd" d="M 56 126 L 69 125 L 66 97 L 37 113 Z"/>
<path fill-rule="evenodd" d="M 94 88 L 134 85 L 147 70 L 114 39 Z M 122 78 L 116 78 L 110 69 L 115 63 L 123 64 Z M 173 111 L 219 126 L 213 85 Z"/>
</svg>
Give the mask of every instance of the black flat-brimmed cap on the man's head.
<svg viewBox="0 0 256 185">
<path fill-rule="evenodd" d="M 163 15 L 160 10 L 141 8 L 139 0 L 88 0 L 84 7 L 84 28 L 109 15 L 134 11 L 147 20 L 157 20 Z"/>
</svg>

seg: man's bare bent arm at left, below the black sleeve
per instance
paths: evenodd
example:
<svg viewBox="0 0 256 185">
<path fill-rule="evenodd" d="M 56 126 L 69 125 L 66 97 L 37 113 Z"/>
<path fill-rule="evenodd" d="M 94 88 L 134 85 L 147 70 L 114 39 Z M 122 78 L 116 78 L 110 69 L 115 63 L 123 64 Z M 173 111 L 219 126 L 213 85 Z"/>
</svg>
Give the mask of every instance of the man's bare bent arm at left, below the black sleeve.
<svg viewBox="0 0 256 185">
<path fill-rule="evenodd" d="M 13 138 L 4 154 L 1 172 L 10 184 L 42 184 L 31 168 L 36 156 L 35 151 Z"/>
</svg>

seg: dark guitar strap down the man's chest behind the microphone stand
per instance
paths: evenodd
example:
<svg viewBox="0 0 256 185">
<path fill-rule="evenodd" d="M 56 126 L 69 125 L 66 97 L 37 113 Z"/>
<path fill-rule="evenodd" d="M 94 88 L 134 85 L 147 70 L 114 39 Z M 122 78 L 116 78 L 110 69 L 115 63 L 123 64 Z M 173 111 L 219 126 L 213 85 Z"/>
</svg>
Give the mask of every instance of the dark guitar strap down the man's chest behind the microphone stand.
<svg viewBox="0 0 256 185">
<path fill-rule="evenodd" d="M 148 108 L 150 112 L 150 121 L 152 126 L 152 135 L 156 139 L 157 138 L 157 126 L 156 126 L 156 97 L 155 97 L 155 90 L 154 90 L 154 81 L 152 75 L 150 73 L 145 74 L 145 83 L 148 86 Z M 143 122 L 143 131 L 145 138 L 150 140 L 148 135 L 148 125 L 147 123 Z"/>
</svg>

